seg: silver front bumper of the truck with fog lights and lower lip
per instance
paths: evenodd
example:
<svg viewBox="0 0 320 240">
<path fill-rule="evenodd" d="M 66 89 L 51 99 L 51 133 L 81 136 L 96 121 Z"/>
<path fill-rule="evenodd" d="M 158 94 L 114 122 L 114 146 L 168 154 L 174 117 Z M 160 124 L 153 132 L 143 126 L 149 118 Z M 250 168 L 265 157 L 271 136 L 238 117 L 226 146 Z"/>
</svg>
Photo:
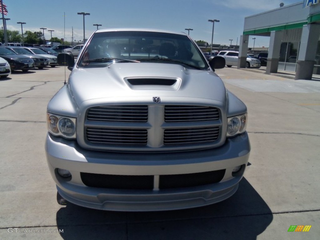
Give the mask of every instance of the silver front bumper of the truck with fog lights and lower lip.
<svg viewBox="0 0 320 240">
<path fill-rule="evenodd" d="M 119 153 L 90 151 L 79 147 L 75 140 L 47 134 L 45 150 L 49 169 L 58 192 L 71 203 L 102 210 L 162 211 L 204 206 L 232 196 L 243 177 L 250 153 L 247 133 L 228 138 L 219 148 L 189 152 Z M 232 175 L 232 170 L 241 170 Z M 71 172 L 64 179 L 57 168 Z M 192 174 L 224 170 L 217 183 L 201 186 L 159 189 L 115 189 L 87 187 L 81 172 L 126 176 L 153 175 L 154 186 L 159 176 Z"/>
</svg>

